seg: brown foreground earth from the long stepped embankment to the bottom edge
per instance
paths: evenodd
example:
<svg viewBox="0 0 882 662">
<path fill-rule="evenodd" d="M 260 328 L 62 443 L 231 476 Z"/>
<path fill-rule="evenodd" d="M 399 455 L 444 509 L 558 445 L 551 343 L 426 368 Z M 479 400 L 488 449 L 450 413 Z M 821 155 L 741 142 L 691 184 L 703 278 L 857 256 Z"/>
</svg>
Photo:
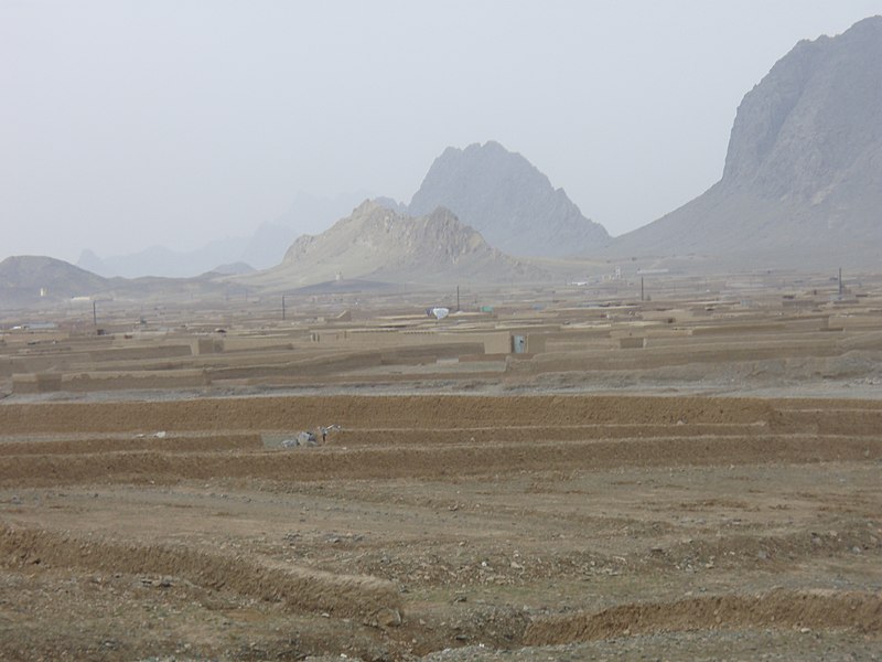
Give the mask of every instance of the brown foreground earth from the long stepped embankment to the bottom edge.
<svg viewBox="0 0 882 662">
<path fill-rule="evenodd" d="M 9 403 L 0 658 L 876 659 L 880 478 L 867 401 Z"/>
</svg>

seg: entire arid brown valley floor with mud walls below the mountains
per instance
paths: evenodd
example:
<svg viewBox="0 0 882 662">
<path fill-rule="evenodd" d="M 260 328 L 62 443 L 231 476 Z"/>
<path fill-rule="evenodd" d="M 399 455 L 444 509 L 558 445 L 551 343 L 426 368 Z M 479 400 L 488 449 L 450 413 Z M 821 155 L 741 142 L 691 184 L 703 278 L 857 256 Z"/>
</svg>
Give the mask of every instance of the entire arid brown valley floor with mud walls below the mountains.
<svg viewBox="0 0 882 662">
<path fill-rule="evenodd" d="M 882 278 L 455 297 L 0 312 L 0 658 L 882 659 Z"/>
</svg>

